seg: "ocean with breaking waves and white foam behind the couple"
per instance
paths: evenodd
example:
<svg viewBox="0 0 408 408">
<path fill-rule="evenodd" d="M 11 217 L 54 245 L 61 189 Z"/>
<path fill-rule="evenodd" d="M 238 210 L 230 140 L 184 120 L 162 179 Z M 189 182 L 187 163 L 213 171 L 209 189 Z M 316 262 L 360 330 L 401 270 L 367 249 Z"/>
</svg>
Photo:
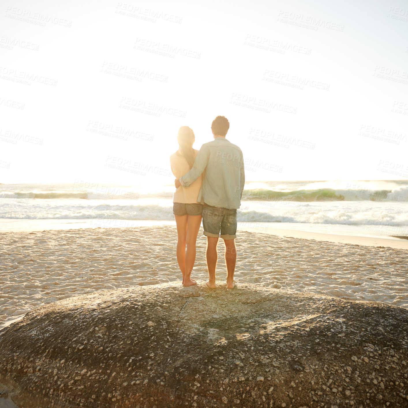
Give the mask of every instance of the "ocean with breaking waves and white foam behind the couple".
<svg viewBox="0 0 408 408">
<path fill-rule="evenodd" d="M 174 186 L 0 184 L 0 231 L 173 224 Z M 408 180 L 247 182 L 240 227 L 407 236 Z M 66 225 L 67 224 L 67 225 Z M 10 228 L 11 226 L 11 228 Z"/>
</svg>

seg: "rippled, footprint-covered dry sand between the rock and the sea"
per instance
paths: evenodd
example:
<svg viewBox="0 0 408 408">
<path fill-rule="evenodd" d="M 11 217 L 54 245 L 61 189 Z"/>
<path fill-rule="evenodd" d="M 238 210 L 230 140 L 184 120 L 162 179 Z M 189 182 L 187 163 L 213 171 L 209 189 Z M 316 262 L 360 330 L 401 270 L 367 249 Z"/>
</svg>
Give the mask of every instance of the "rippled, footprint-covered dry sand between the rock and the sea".
<svg viewBox="0 0 408 408">
<path fill-rule="evenodd" d="M 1 233 L 0 327 L 97 290 L 180 280 L 173 226 Z M 407 251 L 240 231 L 235 280 L 408 308 Z M 222 242 L 219 247 L 223 248 Z M 192 276 L 208 277 L 200 230 Z M 217 285 L 225 285 L 223 255 Z"/>
</svg>

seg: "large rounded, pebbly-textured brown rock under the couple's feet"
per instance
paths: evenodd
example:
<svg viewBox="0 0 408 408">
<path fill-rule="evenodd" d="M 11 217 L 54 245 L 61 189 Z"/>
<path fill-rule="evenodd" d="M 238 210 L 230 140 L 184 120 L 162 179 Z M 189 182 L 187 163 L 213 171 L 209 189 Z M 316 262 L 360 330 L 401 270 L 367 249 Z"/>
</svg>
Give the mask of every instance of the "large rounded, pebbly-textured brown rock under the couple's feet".
<svg viewBox="0 0 408 408">
<path fill-rule="evenodd" d="M 403 308 L 250 284 L 106 290 L 0 331 L 0 382 L 33 408 L 408 406 L 407 333 Z"/>
</svg>

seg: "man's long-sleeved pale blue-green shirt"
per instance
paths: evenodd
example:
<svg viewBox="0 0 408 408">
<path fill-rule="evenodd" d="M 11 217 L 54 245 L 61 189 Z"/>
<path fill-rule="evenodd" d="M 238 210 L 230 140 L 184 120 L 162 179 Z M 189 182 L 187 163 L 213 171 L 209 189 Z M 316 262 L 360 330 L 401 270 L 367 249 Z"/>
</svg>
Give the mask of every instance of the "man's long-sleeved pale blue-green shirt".
<svg viewBox="0 0 408 408">
<path fill-rule="evenodd" d="M 241 149 L 224 137 L 204 143 L 192 169 L 180 183 L 188 187 L 203 173 L 197 202 L 220 208 L 239 208 L 244 191 L 244 157 Z"/>
</svg>

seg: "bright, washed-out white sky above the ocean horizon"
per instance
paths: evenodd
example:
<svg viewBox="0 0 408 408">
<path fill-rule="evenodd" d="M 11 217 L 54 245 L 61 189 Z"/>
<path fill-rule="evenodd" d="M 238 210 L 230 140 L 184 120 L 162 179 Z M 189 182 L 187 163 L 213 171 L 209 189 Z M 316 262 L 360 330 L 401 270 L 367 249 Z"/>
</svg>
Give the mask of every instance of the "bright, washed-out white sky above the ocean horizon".
<svg viewBox="0 0 408 408">
<path fill-rule="evenodd" d="M 408 178 L 406 2 L 0 7 L 1 183 L 171 183 L 217 115 L 247 180 Z"/>
</svg>

